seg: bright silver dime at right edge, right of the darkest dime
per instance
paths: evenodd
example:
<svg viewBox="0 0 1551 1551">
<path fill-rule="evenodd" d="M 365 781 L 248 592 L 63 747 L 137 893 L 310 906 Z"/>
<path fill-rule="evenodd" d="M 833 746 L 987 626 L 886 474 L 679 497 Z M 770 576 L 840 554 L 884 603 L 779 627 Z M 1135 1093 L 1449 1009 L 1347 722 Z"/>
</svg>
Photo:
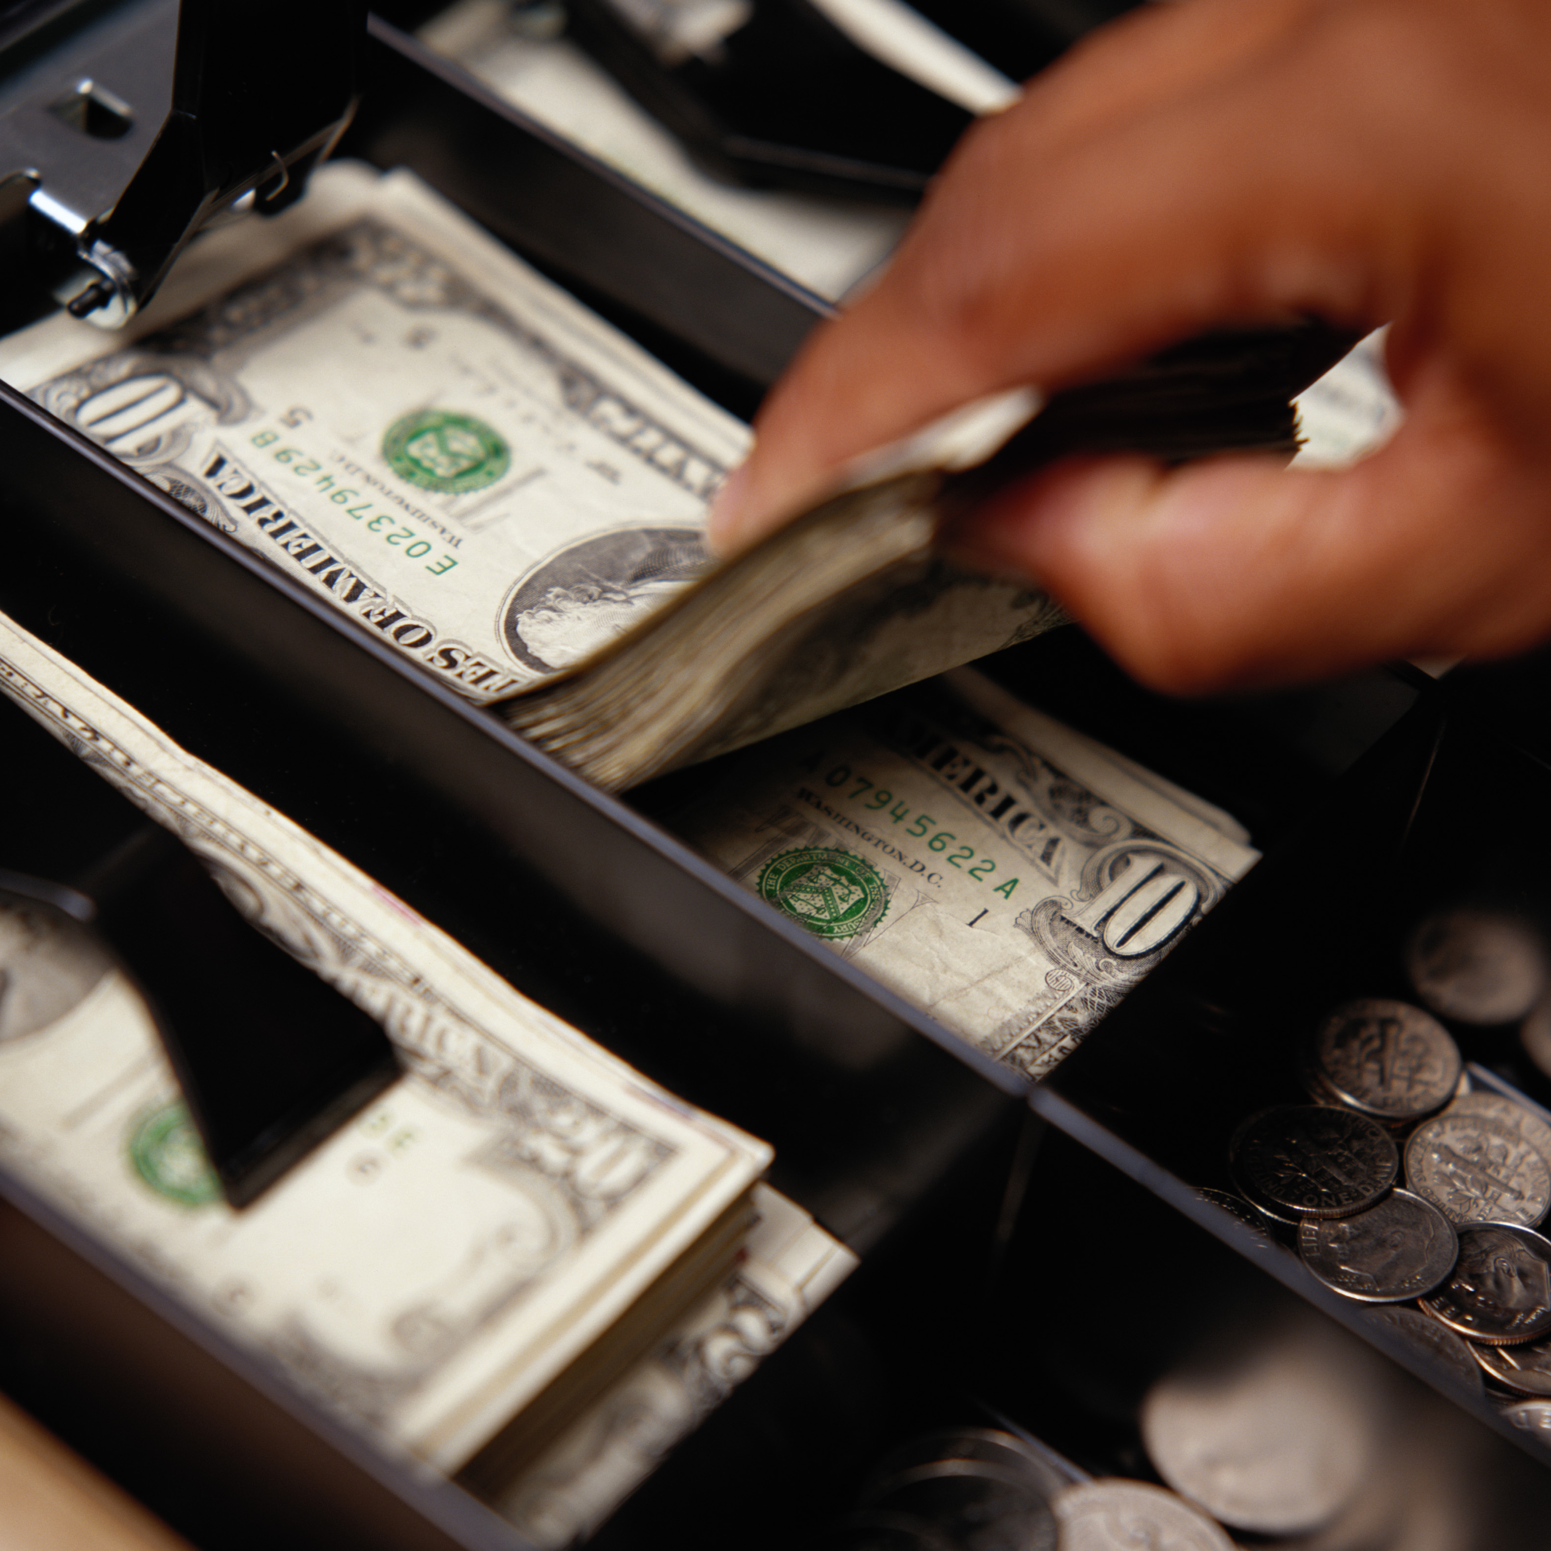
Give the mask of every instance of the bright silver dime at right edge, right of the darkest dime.
<svg viewBox="0 0 1551 1551">
<path fill-rule="evenodd" d="M 1405 1183 L 1453 1224 L 1534 1227 L 1551 1207 L 1546 1160 L 1500 1120 L 1453 1109 L 1411 1132 Z"/>
</svg>

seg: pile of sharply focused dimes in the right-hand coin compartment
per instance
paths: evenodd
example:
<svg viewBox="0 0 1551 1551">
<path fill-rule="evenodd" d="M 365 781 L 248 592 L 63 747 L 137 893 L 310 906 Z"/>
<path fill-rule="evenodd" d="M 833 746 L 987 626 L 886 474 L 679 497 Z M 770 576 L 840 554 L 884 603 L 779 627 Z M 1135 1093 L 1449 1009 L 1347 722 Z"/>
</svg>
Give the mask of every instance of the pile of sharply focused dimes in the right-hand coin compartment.
<svg viewBox="0 0 1551 1551">
<path fill-rule="evenodd" d="M 1506 986 L 1478 972 L 1486 948 L 1452 963 L 1438 931 L 1424 923 L 1413 937 L 1410 969 L 1439 1011 L 1501 1021 L 1509 1002 L 1522 1013 L 1540 994 L 1501 943 L 1494 952 L 1514 969 Z M 1535 1231 L 1551 1210 L 1551 1124 L 1472 1090 L 1449 1030 L 1385 997 L 1331 1011 L 1300 1075 L 1314 1104 L 1261 1111 L 1233 1134 L 1242 1204 L 1295 1235 L 1304 1266 L 1343 1297 L 1415 1301 L 1425 1334 L 1408 1311 L 1385 1323 L 1461 1388 L 1473 1368 L 1475 1393 L 1484 1373 L 1515 1396 L 1551 1397 L 1551 1241 Z"/>
</svg>

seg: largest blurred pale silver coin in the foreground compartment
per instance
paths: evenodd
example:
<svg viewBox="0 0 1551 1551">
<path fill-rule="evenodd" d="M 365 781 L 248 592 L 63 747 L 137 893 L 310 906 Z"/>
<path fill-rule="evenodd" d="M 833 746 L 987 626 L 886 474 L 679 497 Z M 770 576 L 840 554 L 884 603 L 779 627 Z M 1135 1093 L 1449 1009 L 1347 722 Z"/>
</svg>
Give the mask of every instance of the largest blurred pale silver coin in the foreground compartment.
<svg viewBox="0 0 1551 1551">
<path fill-rule="evenodd" d="M 1373 1459 L 1374 1419 L 1348 1357 L 1315 1326 L 1208 1340 L 1148 1390 L 1148 1458 L 1168 1486 L 1235 1529 L 1318 1529 L 1362 1491 Z"/>
</svg>

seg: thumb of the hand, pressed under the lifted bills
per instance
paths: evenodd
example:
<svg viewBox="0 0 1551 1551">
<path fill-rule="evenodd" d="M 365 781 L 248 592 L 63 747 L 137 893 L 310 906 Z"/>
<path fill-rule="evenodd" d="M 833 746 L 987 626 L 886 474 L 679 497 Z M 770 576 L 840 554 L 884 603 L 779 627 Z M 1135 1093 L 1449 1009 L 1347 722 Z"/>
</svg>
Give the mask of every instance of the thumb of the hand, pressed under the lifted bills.
<svg viewBox="0 0 1551 1551">
<path fill-rule="evenodd" d="M 1035 577 L 1155 689 L 1290 682 L 1551 633 L 1551 478 L 1472 417 L 1418 414 L 1342 472 L 1070 461 L 1002 493 L 957 557 Z"/>
</svg>

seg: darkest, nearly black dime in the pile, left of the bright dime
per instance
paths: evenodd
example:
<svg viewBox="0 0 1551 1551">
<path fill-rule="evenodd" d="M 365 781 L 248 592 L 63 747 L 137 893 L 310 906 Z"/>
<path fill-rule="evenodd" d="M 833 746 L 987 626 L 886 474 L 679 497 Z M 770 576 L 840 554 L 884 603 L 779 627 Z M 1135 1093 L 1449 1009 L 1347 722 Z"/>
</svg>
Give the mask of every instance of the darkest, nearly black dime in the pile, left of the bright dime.
<svg viewBox="0 0 1551 1551">
<path fill-rule="evenodd" d="M 1283 1104 L 1239 1126 L 1228 1163 L 1239 1188 L 1273 1211 L 1345 1218 L 1394 1183 L 1401 1160 L 1383 1126 L 1366 1115 Z"/>
</svg>

